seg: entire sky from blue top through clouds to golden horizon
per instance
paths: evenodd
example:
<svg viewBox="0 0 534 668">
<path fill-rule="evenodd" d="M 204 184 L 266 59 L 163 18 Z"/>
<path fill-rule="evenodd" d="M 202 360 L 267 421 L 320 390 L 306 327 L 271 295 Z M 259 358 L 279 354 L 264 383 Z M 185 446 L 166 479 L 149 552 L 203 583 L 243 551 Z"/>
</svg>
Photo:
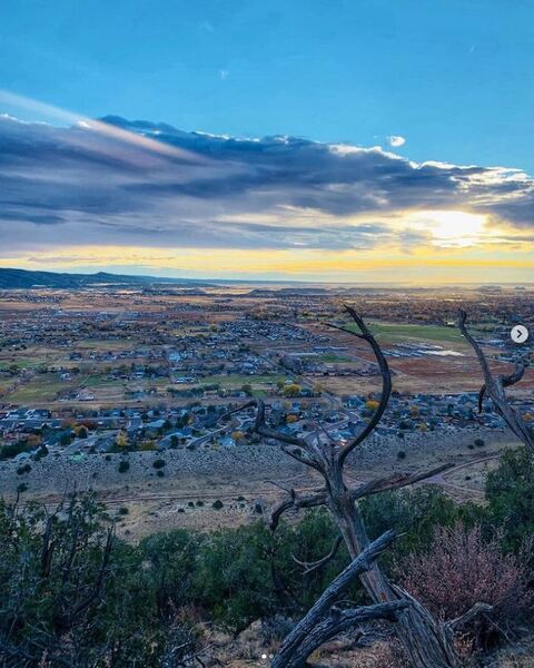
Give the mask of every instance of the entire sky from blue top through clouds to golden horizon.
<svg viewBox="0 0 534 668">
<path fill-rule="evenodd" d="M 0 266 L 533 281 L 533 21 L 528 0 L 2 0 Z"/>
</svg>

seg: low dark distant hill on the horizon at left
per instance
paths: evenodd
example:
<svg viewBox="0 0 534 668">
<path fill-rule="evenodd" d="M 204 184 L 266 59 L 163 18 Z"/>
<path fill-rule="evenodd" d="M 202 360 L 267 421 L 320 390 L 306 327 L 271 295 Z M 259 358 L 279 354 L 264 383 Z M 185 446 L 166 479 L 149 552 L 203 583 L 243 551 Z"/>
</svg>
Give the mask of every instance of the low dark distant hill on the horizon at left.
<svg viewBox="0 0 534 668">
<path fill-rule="evenodd" d="M 156 276 L 127 276 L 121 274 L 60 274 L 57 272 L 28 272 L 26 269 L 0 268 L 0 289 L 17 289 L 32 287 L 79 288 L 90 285 L 142 285 L 142 284 L 175 284 L 175 285 L 202 285 L 207 281 L 194 278 L 161 278 Z"/>
</svg>

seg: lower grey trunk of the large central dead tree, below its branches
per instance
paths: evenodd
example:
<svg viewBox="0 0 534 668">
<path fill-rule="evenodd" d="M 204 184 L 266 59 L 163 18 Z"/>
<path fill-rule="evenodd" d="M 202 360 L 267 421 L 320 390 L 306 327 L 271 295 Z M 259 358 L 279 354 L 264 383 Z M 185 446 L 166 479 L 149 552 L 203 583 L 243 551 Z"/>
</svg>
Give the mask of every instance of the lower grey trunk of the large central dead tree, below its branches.
<svg viewBox="0 0 534 668">
<path fill-rule="evenodd" d="M 328 507 L 350 558 L 355 559 L 369 546 L 357 504 L 344 489 L 332 494 Z M 368 571 L 362 573 L 360 580 L 375 603 L 394 602 L 402 598 L 402 592 L 389 584 L 376 562 Z M 435 620 L 421 603 L 412 605 L 399 612 L 395 629 L 414 668 L 459 667 L 452 633 L 447 632 L 444 625 Z"/>
</svg>

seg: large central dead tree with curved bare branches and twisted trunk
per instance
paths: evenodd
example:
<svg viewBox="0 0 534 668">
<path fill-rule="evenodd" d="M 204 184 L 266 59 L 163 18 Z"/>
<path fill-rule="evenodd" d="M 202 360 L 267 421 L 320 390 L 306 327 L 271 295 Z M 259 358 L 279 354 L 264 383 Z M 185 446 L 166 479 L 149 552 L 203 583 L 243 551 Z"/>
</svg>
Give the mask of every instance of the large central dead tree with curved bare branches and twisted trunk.
<svg viewBox="0 0 534 668">
<path fill-rule="evenodd" d="M 271 429 L 266 423 L 266 407 L 260 399 L 254 399 L 237 410 L 256 406 L 255 431 L 265 439 L 281 443 L 285 453 L 315 470 L 323 479 L 323 485 L 308 495 L 301 497 L 295 490 L 290 490 L 289 498 L 271 514 L 271 529 L 276 529 L 279 519 L 288 510 L 325 505 L 339 529 L 350 559 L 355 560 L 369 547 L 369 539 L 358 508 L 360 499 L 385 490 L 397 490 L 421 482 L 451 465 L 445 464 L 417 473 L 397 473 L 372 480 L 358 487 L 349 487 L 344 472 L 347 458 L 373 434 L 378 425 L 392 393 L 392 376 L 380 346 L 364 320 L 350 306 L 345 306 L 345 311 L 356 323 L 358 331 L 337 325 L 330 326 L 366 342 L 373 350 L 382 375 L 382 395 L 378 406 L 369 422 L 350 443 L 337 443 L 326 433 L 318 434 L 316 439 L 304 439 Z M 323 563 L 326 561 L 327 558 L 322 560 Z M 407 598 L 404 591 L 388 582 L 385 573 L 376 563 L 362 572 L 359 578 L 375 605 L 397 603 Z M 414 668 L 457 668 L 459 661 L 454 649 L 451 628 L 435 620 L 421 603 L 416 601 L 414 603 L 416 605 L 411 605 L 398 612 L 398 623 L 395 627 Z"/>
</svg>

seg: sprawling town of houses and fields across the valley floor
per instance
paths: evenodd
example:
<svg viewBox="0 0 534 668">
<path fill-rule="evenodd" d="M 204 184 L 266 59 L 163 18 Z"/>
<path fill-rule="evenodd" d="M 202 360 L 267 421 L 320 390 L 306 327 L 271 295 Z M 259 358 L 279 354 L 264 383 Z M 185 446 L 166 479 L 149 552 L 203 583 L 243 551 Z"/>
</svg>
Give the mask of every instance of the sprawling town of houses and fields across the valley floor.
<svg viewBox="0 0 534 668">
<path fill-rule="evenodd" d="M 487 400 L 478 411 L 481 381 L 455 312 L 469 310 L 492 363 L 506 370 L 532 356 L 508 336 L 511 323 L 533 322 L 532 295 L 491 286 L 447 295 L 279 286 L 4 291 L 0 462 L 14 464 L 20 492 L 31 490 L 32 464 L 46 455 L 82 466 L 86 456 L 115 453 L 126 473 L 123 455 L 134 451 L 254 448 L 254 407 L 235 412 L 254 396 L 288 434 L 313 438 L 320 425 L 348 442 L 372 416 L 380 379 L 365 344 L 332 326 L 343 320 L 344 299 L 362 305 L 389 360 L 394 392 L 376 433 L 394 440 L 400 458 L 411 434 L 502 430 Z M 527 420 L 530 382 L 514 399 Z"/>
</svg>

